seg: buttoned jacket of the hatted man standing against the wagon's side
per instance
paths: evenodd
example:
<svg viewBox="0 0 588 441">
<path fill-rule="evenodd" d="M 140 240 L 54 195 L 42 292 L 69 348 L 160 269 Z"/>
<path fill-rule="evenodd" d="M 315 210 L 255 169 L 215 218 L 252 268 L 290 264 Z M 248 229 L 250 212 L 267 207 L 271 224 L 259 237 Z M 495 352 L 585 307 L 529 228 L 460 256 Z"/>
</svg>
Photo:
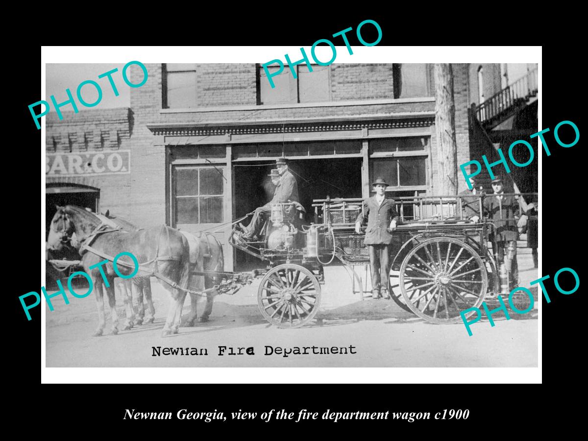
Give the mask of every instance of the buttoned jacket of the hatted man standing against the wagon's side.
<svg viewBox="0 0 588 441">
<path fill-rule="evenodd" d="M 366 228 L 364 243 L 366 245 L 390 245 L 392 243 L 392 233 L 389 233 L 387 229 L 392 219 L 398 219 L 394 199 L 384 198 L 382 205 L 379 205 L 376 201 L 376 196 L 372 196 L 363 202 L 363 212 L 365 216 L 368 216 L 368 228 Z M 363 214 L 359 213 L 355 222 L 363 223 L 364 220 Z"/>
</svg>

